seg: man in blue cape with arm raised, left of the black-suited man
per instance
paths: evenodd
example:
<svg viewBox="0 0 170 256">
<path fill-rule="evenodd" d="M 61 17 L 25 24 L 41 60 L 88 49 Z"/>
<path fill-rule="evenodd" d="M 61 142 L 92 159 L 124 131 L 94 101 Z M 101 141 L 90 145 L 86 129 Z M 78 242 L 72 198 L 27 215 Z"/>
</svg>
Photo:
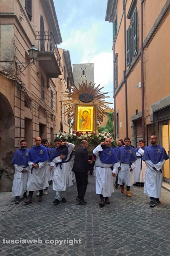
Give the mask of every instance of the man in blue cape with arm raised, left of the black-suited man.
<svg viewBox="0 0 170 256">
<path fill-rule="evenodd" d="M 53 150 L 51 166 L 54 166 L 53 190 L 56 190 L 53 203 L 57 205 L 60 201 L 66 203 L 66 187 L 73 185 L 69 161 L 75 145 L 61 142 L 60 138 L 56 138 L 54 142 L 56 147 Z"/>
</svg>

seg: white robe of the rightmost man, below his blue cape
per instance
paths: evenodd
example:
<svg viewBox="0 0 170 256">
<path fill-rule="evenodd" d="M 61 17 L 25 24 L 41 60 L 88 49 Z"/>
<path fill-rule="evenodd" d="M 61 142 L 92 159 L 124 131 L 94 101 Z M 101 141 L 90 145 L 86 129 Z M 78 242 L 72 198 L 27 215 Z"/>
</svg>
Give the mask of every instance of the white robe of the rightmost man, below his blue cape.
<svg viewBox="0 0 170 256">
<path fill-rule="evenodd" d="M 160 198 L 161 197 L 161 186 L 162 186 L 162 178 L 163 174 L 159 171 L 163 164 L 163 161 L 154 165 L 150 160 L 146 160 L 146 170 L 145 170 L 145 187 L 144 193 L 148 195 L 148 197 Z M 156 170 L 153 169 L 156 168 Z"/>
</svg>

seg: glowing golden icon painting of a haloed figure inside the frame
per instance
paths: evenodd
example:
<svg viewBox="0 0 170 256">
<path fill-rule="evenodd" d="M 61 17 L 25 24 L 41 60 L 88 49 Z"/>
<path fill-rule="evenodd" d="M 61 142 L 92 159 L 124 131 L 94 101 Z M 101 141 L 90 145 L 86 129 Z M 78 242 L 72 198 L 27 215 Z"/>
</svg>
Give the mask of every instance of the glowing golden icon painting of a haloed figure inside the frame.
<svg viewBox="0 0 170 256">
<path fill-rule="evenodd" d="M 77 131 L 93 132 L 94 106 L 77 106 Z"/>
</svg>

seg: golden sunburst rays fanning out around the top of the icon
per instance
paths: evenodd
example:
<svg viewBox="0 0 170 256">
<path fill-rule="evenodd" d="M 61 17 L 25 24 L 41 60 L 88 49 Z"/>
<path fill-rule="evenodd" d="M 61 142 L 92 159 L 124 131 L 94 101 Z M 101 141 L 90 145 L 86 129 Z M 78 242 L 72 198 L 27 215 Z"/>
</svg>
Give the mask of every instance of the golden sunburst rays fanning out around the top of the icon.
<svg viewBox="0 0 170 256">
<path fill-rule="evenodd" d="M 100 123 L 102 122 L 102 116 L 106 116 L 105 109 L 107 109 L 107 105 L 111 103 L 105 102 L 105 99 L 110 97 L 105 96 L 105 94 L 107 94 L 108 92 L 101 92 L 104 86 L 101 88 L 99 88 L 99 86 L 100 84 L 95 87 L 95 84 L 92 84 L 92 82 L 88 84 L 86 80 L 86 83 L 84 83 L 84 81 L 82 81 L 81 84 L 78 83 L 78 88 L 75 86 L 72 87 L 72 91 L 65 91 L 64 97 L 66 97 L 67 100 L 60 102 L 63 103 L 61 107 L 65 107 L 67 109 L 63 114 L 68 115 L 69 121 L 74 118 L 75 104 L 86 105 L 79 100 L 79 95 L 82 93 L 90 93 L 93 96 L 93 101 L 91 102 L 91 104 L 96 104 L 97 106 L 97 120 Z"/>
</svg>

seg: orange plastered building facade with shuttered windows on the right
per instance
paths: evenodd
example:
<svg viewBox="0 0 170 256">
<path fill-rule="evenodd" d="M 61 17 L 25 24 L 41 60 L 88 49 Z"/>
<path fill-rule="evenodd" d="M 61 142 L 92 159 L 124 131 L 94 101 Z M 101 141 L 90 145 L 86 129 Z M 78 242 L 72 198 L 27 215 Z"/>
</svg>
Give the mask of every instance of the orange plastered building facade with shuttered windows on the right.
<svg viewBox="0 0 170 256">
<path fill-rule="evenodd" d="M 113 23 L 115 137 L 150 144 L 155 134 L 169 154 L 169 0 L 108 0 Z M 121 123 L 121 126 L 120 126 Z M 169 160 L 163 176 L 170 181 Z"/>
</svg>

